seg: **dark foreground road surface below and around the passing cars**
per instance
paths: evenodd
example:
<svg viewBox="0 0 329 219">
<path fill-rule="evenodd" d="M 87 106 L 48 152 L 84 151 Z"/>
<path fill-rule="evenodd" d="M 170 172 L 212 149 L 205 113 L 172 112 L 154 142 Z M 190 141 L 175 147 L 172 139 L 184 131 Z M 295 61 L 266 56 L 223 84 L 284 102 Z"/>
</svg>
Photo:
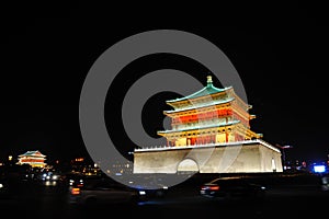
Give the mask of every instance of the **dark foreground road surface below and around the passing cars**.
<svg viewBox="0 0 329 219">
<path fill-rule="evenodd" d="M 320 218 L 326 214 L 329 192 L 318 184 L 269 185 L 266 197 L 252 199 L 208 199 L 198 195 L 198 185 L 178 186 L 164 197 L 151 198 L 138 206 L 71 206 L 67 191 L 58 186 L 29 185 L 21 194 L 0 200 L 1 218 Z"/>
</svg>

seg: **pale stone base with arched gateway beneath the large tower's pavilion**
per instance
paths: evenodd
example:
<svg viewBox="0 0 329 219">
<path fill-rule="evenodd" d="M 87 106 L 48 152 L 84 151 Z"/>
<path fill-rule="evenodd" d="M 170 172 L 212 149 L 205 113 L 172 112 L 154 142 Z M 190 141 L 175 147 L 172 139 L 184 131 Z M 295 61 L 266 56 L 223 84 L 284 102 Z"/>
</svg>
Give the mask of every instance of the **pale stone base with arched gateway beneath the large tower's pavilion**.
<svg viewBox="0 0 329 219">
<path fill-rule="evenodd" d="M 134 151 L 134 173 L 283 172 L 281 152 L 261 139 Z"/>
</svg>

